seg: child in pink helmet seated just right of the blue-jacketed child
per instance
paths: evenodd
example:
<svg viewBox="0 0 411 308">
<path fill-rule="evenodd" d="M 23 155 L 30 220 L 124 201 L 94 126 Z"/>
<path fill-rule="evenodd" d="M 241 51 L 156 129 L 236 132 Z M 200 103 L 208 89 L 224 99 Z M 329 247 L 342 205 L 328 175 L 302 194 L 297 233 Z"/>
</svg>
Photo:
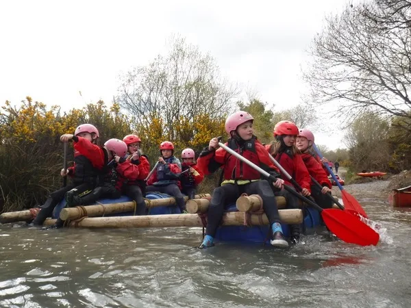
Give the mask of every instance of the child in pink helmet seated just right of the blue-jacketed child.
<svg viewBox="0 0 411 308">
<path fill-rule="evenodd" d="M 182 192 L 190 199 L 194 199 L 197 185 L 203 181 L 204 175 L 197 163 L 194 162 L 195 153 L 192 149 L 182 151 L 182 175 L 180 177 Z"/>
</svg>

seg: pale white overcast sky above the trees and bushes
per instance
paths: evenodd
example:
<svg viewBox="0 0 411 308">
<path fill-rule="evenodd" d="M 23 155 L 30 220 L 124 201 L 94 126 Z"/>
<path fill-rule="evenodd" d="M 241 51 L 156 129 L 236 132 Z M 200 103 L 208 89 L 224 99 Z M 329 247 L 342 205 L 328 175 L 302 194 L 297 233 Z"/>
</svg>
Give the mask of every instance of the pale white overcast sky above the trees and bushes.
<svg viewBox="0 0 411 308">
<path fill-rule="evenodd" d="M 325 15 L 346 3 L 1 1 L 0 103 L 18 104 L 26 96 L 63 109 L 110 103 L 119 74 L 149 64 L 177 34 L 275 110 L 293 107 L 308 90 L 301 66 L 312 39 Z M 338 119 L 323 116 L 321 123 L 338 125 Z M 313 131 L 316 143 L 344 147 L 338 129 Z"/>
</svg>

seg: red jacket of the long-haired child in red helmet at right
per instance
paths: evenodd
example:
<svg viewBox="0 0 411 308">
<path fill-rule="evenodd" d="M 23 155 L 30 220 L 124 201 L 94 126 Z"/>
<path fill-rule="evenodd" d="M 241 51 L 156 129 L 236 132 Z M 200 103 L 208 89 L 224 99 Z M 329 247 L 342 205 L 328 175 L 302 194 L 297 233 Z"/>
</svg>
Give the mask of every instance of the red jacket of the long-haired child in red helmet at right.
<svg viewBox="0 0 411 308">
<path fill-rule="evenodd" d="M 265 147 L 267 151 L 270 151 L 271 144 L 267 144 Z M 310 173 L 308 173 L 301 155 L 295 154 L 290 156 L 287 153 L 283 152 L 278 153 L 274 158 L 277 162 L 279 162 L 282 168 L 284 168 L 288 172 L 292 179 L 295 179 L 295 181 L 299 183 L 301 188 L 306 188 L 311 192 Z M 286 175 L 282 175 L 282 179 L 284 179 L 286 185 L 292 186 L 292 183 L 287 180 Z"/>
</svg>

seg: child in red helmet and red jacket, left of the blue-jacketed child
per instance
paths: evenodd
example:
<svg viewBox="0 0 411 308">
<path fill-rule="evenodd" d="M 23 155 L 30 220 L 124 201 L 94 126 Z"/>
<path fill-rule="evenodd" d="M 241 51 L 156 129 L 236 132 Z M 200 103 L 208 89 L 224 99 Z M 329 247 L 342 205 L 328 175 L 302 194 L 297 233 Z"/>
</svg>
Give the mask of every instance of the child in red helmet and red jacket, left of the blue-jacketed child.
<svg viewBox="0 0 411 308">
<path fill-rule="evenodd" d="M 143 197 L 146 188 L 145 178 L 150 172 L 149 159 L 140 152 L 141 139 L 138 136 L 127 135 L 123 141 L 127 144 L 128 152 L 125 157 L 114 157 L 117 162 L 116 170 L 123 183 L 124 194 L 136 202 L 136 215 L 145 215 L 146 206 Z"/>
</svg>

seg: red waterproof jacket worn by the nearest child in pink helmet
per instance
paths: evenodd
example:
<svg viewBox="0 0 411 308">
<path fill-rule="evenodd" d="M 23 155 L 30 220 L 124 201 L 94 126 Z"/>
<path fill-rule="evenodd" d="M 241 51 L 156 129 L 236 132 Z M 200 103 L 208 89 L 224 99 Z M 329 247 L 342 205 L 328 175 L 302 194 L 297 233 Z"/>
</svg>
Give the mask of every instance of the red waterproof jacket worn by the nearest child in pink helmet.
<svg viewBox="0 0 411 308">
<path fill-rule="evenodd" d="M 271 173 L 274 177 L 279 177 L 279 170 L 273 165 L 264 146 L 254 136 L 251 140 L 239 144 L 236 140 L 230 138 L 225 144 L 249 161 L 253 162 L 260 168 Z M 200 153 L 198 159 L 199 169 L 205 175 L 223 168 L 223 177 L 225 180 L 256 180 L 261 179 L 262 175 L 249 165 L 237 159 L 234 155 L 227 153 L 223 148 L 216 151 L 210 151 L 206 148 Z"/>
</svg>

